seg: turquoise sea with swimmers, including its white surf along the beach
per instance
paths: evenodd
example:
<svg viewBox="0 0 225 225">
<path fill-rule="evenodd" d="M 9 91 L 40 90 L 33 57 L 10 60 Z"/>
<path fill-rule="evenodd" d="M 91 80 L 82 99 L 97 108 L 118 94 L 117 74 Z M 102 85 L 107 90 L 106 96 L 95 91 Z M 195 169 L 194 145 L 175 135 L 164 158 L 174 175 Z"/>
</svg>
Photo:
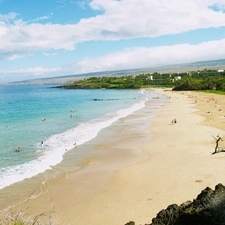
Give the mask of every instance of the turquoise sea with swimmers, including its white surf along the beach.
<svg viewBox="0 0 225 225">
<path fill-rule="evenodd" d="M 0 86 L 0 189 L 51 169 L 74 143 L 95 138 L 156 96 L 145 90 Z"/>
</svg>

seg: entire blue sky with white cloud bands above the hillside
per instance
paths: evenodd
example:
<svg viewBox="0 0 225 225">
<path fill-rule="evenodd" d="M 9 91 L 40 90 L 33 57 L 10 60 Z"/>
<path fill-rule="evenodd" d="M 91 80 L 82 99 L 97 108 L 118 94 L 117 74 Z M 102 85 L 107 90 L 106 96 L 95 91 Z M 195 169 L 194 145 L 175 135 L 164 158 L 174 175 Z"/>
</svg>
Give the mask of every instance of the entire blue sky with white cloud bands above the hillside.
<svg viewBox="0 0 225 225">
<path fill-rule="evenodd" d="M 225 0 L 0 0 L 0 83 L 225 59 Z"/>
</svg>

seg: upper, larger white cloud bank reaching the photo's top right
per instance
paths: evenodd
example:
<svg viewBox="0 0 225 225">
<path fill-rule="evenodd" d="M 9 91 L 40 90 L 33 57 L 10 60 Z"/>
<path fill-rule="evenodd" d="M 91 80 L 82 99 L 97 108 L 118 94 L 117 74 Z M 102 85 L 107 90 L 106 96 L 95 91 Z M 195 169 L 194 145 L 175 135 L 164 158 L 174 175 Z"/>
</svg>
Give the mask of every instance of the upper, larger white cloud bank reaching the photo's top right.
<svg viewBox="0 0 225 225">
<path fill-rule="evenodd" d="M 9 59 L 13 51 L 23 56 L 23 51 L 74 50 L 77 43 L 88 40 L 156 37 L 225 26 L 225 14 L 210 9 L 213 4 L 225 5 L 224 0 L 93 0 L 90 6 L 103 13 L 69 25 L 27 24 L 16 20 L 16 13 L 0 15 L 0 42 L 4 43 L 0 54 Z"/>
</svg>

